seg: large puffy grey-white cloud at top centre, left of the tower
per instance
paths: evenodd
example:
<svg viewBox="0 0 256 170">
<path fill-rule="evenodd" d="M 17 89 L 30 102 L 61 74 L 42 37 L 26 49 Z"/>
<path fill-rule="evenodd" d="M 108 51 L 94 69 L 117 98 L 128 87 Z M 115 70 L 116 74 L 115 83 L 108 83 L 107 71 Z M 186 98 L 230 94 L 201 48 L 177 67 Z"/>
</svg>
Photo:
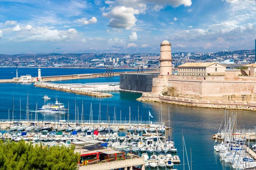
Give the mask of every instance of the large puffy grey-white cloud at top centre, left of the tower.
<svg viewBox="0 0 256 170">
<path fill-rule="evenodd" d="M 137 21 L 135 14 L 140 14 L 140 11 L 125 6 L 116 6 L 108 13 L 103 12 L 102 15 L 111 18 L 108 24 L 109 27 L 131 29 Z"/>
</svg>

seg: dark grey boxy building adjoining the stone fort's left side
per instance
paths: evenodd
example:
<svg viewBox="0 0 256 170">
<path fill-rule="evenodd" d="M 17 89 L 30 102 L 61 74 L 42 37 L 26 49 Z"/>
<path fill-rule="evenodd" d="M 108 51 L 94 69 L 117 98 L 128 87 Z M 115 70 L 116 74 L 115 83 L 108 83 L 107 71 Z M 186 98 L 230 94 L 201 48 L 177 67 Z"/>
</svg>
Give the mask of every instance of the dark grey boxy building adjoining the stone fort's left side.
<svg viewBox="0 0 256 170">
<path fill-rule="evenodd" d="M 151 92 L 152 80 L 158 74 L 120 74 L 120 88 L 128 91 Z"/>
</svg>

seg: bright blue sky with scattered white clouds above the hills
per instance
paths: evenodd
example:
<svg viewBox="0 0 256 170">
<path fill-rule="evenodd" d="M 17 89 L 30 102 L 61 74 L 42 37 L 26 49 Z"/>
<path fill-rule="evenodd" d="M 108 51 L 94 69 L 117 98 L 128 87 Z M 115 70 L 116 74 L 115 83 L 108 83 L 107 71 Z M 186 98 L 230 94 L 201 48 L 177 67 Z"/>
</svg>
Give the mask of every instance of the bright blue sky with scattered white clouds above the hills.
<svg viewBox="0 0 256 170">
<path fill-rule="evenodd" d="M 0 0 L 0 54 L 254 49 L 256 0 Z"/>
</svg>

